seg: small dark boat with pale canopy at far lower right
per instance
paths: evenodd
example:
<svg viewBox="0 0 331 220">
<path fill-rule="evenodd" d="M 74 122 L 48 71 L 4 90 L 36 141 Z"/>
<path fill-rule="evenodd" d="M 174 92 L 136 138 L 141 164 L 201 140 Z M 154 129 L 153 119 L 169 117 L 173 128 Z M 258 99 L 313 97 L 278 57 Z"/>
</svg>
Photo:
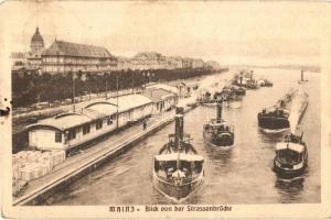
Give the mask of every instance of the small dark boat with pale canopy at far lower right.
<svg viewBox="0 0 331 220">
<path fill-rule="evenodd" d="M 302 135 L 290 133 L 284 142 L 277 143 L 274 170 L 281 177 L 301 175 L 308 166 L 308 151 Z"/>
</svg>

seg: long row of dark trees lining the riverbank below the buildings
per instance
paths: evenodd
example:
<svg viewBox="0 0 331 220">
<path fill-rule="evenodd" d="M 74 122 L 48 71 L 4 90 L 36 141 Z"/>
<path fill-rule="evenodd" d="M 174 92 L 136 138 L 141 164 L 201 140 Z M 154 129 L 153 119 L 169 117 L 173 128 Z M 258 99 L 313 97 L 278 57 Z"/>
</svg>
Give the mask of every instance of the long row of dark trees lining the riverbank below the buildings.
<svg viewBox="0 0 331 220">
<path fill-rule="evenodd" d="M 214 72 L 209 67 L 51 75 L 38 70 L 21 69 L 12 74 L 12 105 L 13 108 L 29 107 L 40 101 L 52 102 L 72 98 L 73 87 L 75 87 L 75 96 L 82 96 L 106 90 L 114 91 L 117 88 L 141 87 L 149 81 L 185 79 Z"/>
</svg>

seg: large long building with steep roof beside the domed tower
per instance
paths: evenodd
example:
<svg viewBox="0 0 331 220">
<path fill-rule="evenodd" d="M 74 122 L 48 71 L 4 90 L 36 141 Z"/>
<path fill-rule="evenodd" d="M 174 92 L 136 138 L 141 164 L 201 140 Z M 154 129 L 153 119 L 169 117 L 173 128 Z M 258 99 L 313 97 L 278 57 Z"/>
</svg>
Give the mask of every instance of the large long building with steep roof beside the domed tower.
<svg viewBox="0 0 331 220">
<path fill-rule="evenodd" d="M 103 73 L 117 68 L 117 59 L 100 46 L 55 41 L 42 53 L 44 73 Z"/>
</svg>

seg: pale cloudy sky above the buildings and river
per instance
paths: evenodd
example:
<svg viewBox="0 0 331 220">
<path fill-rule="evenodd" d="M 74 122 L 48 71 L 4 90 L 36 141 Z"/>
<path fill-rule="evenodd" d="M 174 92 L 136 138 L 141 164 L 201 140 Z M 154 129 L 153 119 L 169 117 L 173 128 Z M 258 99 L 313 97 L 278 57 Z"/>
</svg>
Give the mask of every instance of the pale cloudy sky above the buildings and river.
<svg viewBox="0 0 331 220">
<path fill-rule="evenodd" d="M 156 51 L 221 65 L 318 65 L 325 13 L 322 3 L 312 1 L 36 0 L 4 4 L 0 13 L 6 14 L 11 51 L 28 51 L 39 26 L 46 46 L 56 38 L 105 46 L 117 56 Z"/>
</svg>

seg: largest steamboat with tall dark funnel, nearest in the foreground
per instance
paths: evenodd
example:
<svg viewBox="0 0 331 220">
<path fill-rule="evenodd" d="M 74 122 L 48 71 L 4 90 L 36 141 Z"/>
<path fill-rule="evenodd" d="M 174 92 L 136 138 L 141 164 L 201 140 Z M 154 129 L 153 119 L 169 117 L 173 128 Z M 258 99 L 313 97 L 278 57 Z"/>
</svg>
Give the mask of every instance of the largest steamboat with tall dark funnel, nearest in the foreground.
<svg viewBox="0 0 331 220">
<path fill-rule="evenodd" d="M 167 198 L 181 202 L 202 184 L 203 156 L 183 131 L 183 108 L 177 108 L 175 132 L 153 157 L 153 184 Z"/>
</svg>

